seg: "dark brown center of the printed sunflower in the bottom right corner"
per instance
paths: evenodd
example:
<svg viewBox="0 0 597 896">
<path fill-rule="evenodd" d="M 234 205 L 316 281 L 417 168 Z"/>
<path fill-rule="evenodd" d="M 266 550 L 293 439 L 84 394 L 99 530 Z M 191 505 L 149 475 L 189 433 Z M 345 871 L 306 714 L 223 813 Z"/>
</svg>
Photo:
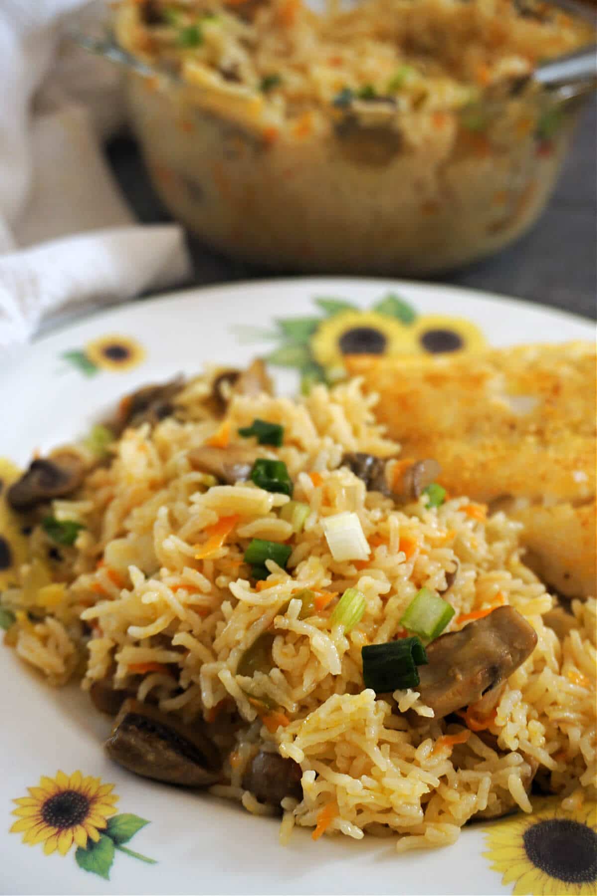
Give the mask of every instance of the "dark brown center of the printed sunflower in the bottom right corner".
<svg viewBox="0 0 597 896">
<path fill-rule="evenodd" d="M 523 842 L 526 855 L 544 874 L 566 883 L 597 881 L 597 834 L 588 825 L 550 818 L 531 824 Z"/>
</svg>

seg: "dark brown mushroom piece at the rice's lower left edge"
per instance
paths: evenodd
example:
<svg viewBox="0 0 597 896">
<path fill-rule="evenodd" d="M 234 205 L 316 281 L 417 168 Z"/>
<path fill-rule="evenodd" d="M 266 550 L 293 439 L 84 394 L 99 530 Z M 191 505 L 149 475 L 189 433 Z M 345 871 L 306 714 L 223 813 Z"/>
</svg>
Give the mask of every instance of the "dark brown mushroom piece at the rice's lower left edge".
<svg viewBox="0 0 597 896">
<path fill-rule="evenodd" d="M 219 751 L 200 728 L 187 728 L 137 700 L 123 703 L 106 749 L 125 769 L 168 784 L 209 787 L 219 777 Z"/>
</svg>

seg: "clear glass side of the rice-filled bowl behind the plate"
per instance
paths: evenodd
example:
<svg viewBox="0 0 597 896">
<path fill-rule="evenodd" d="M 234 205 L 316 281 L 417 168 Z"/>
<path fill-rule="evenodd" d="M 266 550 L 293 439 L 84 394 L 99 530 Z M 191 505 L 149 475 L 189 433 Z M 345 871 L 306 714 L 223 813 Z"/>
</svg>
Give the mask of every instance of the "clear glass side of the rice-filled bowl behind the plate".
<svg viewBox="0 0 597 896">
<path fill-rule="evenodd" d="M 88 47 L 90 41 L 87 41 Z M 411 121 L 382 104 L 264 125 L 235 90 L 128 56 L 132 127 L 162 201 L 217 250 L 273 270 L 422 275 L 507 246 L 548 201 L 584 95 L 523 90 Z M 356 109 L 356 111 L 355 111 Z"/>
</svg>

